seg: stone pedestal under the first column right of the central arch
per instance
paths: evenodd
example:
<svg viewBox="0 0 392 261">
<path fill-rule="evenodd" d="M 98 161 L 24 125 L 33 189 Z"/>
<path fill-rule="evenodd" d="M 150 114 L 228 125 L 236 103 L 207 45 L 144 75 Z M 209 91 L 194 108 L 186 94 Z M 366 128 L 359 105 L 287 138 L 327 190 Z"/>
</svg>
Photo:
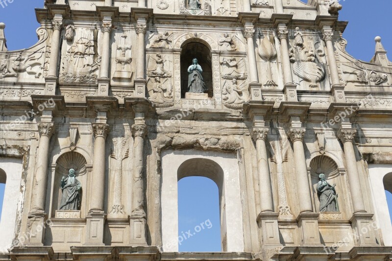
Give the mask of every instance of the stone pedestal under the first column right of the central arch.
<svg viewBox="0 0 392 261">
<path fill-rule="evenodd" d="M 262 212 L 257 216 L 260 238 L 262 238 L 262 250 L 282 246 L 279 237 L 278 216 L 278 213 L 273 212 Z"/>
</svg>

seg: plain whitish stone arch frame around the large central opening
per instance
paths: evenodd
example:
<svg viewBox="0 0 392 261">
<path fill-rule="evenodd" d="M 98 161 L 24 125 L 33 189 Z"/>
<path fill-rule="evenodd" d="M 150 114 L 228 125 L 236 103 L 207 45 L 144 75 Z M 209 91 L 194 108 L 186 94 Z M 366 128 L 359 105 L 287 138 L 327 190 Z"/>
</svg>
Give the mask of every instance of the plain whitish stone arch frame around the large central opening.
<svg viewBox="0 0 392 261">
<path fill-rule="evenodd" d="M 198 150 L 162 152 L 163 251 L 178 252 L 177 182 L 189 176 L 207 177 L 217 184 L 220 195 L 222 249 L 227 252 L 243 252 L 243 211 L 237 157 L 233 153 Z"/>
</svg>

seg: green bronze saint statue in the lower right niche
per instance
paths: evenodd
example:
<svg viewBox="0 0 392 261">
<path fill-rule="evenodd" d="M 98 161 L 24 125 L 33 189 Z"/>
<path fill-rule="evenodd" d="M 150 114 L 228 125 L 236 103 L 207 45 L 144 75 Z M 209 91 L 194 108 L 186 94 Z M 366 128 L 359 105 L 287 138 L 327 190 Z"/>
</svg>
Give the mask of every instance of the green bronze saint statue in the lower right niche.
<svg viewBox="0 0 392 261">
<path fill-rule="evenodd" d="M 338 194 L 336 194 L 335 187 L 331 186 L 326 180 L 325 175 L 319 175 L 320 181 L 317 184 L 317 195 L 320 201 L 320 212 L 339 212 Z"/>
</svg>

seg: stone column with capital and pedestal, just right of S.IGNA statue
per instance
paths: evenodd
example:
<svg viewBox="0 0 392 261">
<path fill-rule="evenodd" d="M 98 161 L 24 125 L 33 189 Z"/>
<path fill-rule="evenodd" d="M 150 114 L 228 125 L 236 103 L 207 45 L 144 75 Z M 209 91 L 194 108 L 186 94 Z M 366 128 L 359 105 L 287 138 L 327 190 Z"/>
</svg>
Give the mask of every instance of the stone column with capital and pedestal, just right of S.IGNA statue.
<svg viewBox="0 0 392 261">
<path fill-rule="evenodd" d="M 94 132 L 94 158 L 93 177 L 91 179 L 90 210 L 87 215 L 86 244 L 103 245 L 103 229 L 105 213 L 103 202 L 105 199 L 105 172 L 106 172 L 106 137 L 109 125 L 106 123 L 93 123 Z"/>
</svg>

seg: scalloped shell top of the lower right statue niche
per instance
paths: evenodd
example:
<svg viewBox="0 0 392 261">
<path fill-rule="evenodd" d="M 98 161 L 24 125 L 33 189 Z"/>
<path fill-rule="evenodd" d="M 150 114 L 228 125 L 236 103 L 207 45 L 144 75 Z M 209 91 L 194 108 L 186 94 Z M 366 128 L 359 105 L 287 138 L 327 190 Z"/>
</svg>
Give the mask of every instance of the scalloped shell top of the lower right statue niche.
<svg viewBox="0 0 392 261">
<path fill-rule="evenodd" d="M 339 174 L 338 165 L 328 156 L 317 156 L 310 162 L 310 175 L 319 179 L 319 174 L 324 173 L 327 179 Z"/>
</svg>

